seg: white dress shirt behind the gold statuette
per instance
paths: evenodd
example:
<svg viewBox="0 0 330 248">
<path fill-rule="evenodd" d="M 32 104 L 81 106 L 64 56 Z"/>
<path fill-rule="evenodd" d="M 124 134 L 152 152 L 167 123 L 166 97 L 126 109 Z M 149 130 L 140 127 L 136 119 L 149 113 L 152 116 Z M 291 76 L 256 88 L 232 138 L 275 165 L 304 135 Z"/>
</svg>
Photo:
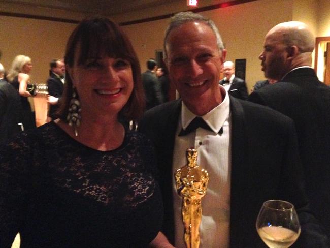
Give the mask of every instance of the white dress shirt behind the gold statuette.
<svg viewBox="0 0 330 248">
<path fill-rule="evenodd" d="M 222 87 L 219 85 L 219 87 Z M 212 131 L 197 128 L 186 136 L 178 136 L 195 115 L 182 103 L 181 116 L 176 132 L 173 152 L 173 175 L 175 171 L 187 164 L 186 149 L 197 149 L 197 164 L 209 173 L 209 183 L 206 195 L 202 198 L 202 221 L 200 225 L 200 248 L 229 247 L 229 217 L 230 217 L 230 111 L 229 97 L 201 116 Z M 218 134 L 223 128 L 223 133 Z M 177 194 L 173 181 L 175 247 L 185 248 L 184 226 L 182 223 L 182 197 Z"/>
</svg>

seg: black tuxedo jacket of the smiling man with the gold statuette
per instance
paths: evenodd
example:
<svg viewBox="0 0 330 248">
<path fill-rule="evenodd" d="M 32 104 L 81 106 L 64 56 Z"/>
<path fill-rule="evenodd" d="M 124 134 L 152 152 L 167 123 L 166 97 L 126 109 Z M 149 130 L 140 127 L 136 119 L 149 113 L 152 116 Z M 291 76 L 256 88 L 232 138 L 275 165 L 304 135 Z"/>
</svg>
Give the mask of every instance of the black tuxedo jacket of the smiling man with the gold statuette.
<svg viewBox="0 0 330 248">
<path fill-rule="evenodd" d="M 138 126 L 155 146 L 164 202 L 163 232 L 172 243 L 172 162 L 180 110 L 180 100 L 159 105 L 147 111 Z M 302 233 L 298 246 L 292 247 L 327 247 L 323 245 L 326 237 L 319 234 L 321 231 L 314 217 L 306 211 L 307 199 L 302 189 L 302 169 L 292 120 L 270 108 L 233 97 L 230 97 L 230 113 L 230 247 L 267 247 L 256 232 L 255 222 L 262 203 L 270 199 L 292 202 L 299 211 Z"/>
</svg>

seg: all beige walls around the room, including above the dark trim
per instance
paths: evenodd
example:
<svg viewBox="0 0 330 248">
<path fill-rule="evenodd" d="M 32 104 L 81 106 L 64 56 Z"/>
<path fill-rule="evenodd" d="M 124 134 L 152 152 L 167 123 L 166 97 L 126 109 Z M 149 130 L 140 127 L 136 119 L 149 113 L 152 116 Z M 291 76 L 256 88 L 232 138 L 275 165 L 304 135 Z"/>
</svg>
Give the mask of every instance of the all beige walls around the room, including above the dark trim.
<svg viewBox="0 0 330 248">
<path fill-rule="evenodd" d="M 160 8 L 167 8 L 168 13 L 186 10 L 185 1 L 174 1 L 168 7 L 159 6 L 145 12 L 150 16 L 160 15 Z M 226 2 L 211 1 L 212 4 Z M 19 8 L 14 5 L 1 5 L 0 11 L 26 14 L 39 14 L 58 18 L 80 20 L 81 13 L 52 11 L 48 9 Z M 227 49 L 227 60 L 246 58 L 246 81 L 251 88 L 257 80 L 262 80 L 258 55 L 262 50 L 263 38 L 268 30 L 279 22 L 298 20 L 309 24 L 316 36 L 330 36 L 330 1 L 328 0 L 258 0 L 232 7 L 201 12 L 210 17 L 219 27 Z M 141 19 L 141 11 L 113 16 L 122 22 Z M 168 19 L 124 26 L 138 53 L 142 71 L 145 62 L 155 57 L 155 51 L 162 49 L 164 30 Z M 48 63 L 52 58 L 62 57 L 65 43 L 76 24 L 0 16 L 0 50 L 3 52 L 2 63 L 9 69 L 15 55 L 24 54 L 32 58 L 34 69 L 31 79 L 45 82 L 48 76 Z"/>
</svg>

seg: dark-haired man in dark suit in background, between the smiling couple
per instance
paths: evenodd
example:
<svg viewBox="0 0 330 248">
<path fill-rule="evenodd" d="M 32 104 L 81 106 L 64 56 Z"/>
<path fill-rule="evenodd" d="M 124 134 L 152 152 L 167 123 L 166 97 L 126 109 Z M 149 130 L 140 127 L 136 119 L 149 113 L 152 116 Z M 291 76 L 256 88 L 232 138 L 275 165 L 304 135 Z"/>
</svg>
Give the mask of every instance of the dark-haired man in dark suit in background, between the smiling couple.
<svg viewBox="0 0 330 248">
<path fill-rule="evenodd" d="M 156 76 L 157 63 L 154 59 L 147 61 L 147 71 L 142 73 L 142 83 L 146 97 L 146 110 L 163 102 L 160 83 Z"/>
</svg>

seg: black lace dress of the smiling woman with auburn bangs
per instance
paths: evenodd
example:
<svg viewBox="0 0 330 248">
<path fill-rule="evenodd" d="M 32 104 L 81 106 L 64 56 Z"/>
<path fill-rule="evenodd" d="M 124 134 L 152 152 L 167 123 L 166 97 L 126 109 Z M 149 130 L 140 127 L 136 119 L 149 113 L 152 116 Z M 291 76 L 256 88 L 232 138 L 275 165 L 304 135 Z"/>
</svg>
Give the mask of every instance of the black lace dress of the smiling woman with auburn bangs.
<svg viewBox="0 0 330 248">
<path fill-rule="evenodd" d="M 136 132 L 98 151 L 54 122 L 0 148 L 0 247 L 146 247 L 160 230 L 154 151 Z"/>
</svg>

